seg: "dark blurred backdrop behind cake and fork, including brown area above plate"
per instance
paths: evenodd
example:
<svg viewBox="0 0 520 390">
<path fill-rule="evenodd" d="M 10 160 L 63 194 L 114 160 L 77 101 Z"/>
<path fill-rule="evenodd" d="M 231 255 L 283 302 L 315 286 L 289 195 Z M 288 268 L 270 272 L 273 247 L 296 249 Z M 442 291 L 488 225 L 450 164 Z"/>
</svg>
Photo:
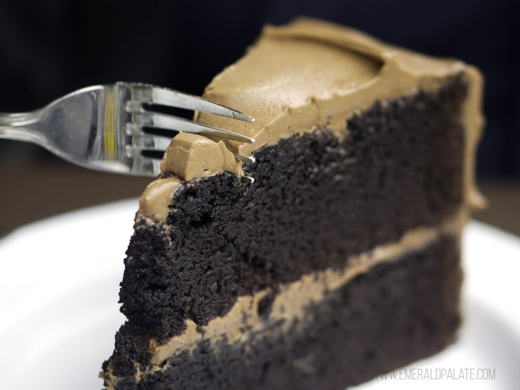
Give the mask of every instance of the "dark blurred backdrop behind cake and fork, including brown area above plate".
<svg viewBox="0 0 520 390">
<path fill-rule="evenodd" d="M 89 85 L 139 81 L 200 95 L 266 23 L 305 15 L 422 53 L 472 63 L 486 77 L 478 179 L 483 219 L 519 232 L 520 12 L 515 0 L 0 0 L 0 111 L 21 112 Z M 90 172 L 0 140 L 0 235 L 31 220 L 138 196 L 148 179 Z M 498 197 L 498 198 L 497 198 Z M 513 210 L 513 211 L 511 211 Z M 486 213 L 503 214 L 502 222 Z M 517 230 L 516 230 L 517 229 Z"/>
</svg>

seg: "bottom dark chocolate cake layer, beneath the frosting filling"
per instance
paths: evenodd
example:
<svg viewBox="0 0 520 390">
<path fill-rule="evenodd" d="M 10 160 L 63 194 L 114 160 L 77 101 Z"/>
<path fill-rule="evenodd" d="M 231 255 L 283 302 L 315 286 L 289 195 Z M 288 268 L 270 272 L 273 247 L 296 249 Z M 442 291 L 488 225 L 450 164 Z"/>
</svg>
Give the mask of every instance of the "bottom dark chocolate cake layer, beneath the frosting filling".
<svg viewBox="0 0 520 390">
<path fill-rule="evenodd" d="M 420 250 L 373 266 L 305 308 L 288 331 L 246 342 L 207 339 L 163 362 L 146 380 L 116 390 L 335 389 L 430 356 L 460 324 L 459 243 L 443 235 Z M 259 306 L 269 316 L 269 302 Z"/>
</svg>

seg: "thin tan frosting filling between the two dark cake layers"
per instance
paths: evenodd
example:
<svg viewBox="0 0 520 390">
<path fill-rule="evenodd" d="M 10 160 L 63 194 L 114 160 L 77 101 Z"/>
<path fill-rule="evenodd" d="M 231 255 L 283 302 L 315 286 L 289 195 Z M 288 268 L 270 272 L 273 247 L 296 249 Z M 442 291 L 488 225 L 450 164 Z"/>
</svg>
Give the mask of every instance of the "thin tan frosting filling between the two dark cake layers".
<svg viewBox="0 0 520 390">
<path fill-rule="evenodd" d="M 328 292 L 341 288 L 375 265 L 396 261 L 407 253 L 421 250 L 441 235 L 452 236 L 460 242 L 460 233 L 468 216 L 466 207 L 462 207 L 458 213 L 439 226 L 412 229 L 397 242 L 382 244 L 368 252 L 350 256 L 343 268 L 316 271 L 304 275 L 295 282 L 281 285 L 272 302 L 267 320 L 258 315 L 258 303 L 271 292 L 269 289 L 254 295 L 238 297 L 237 302 L 226 315 L 214 318 L 205 326 L 198 327 L 191 319 L 186 319 L 187 328 L 184 333 L 172 337 L 166 344 L 161 344 L 155 339 L 148 341 L 148 350 L 151 353 L 150 366 L 142 370 L 136 362 L 136 379 L 139 381 L 144 375 L 165 370 L 168 366 L 166 361 L 168 358 L 180 353 L 181 350 L 193 350 L 202 340 L 209 341 L 210 345 L 215 345 L 217 341 L 224 338 L 228 344 L 241 343 L 262 332 L 272 333 L 276 328 L 272 328 L 271 325 L 280 321 L 281 325 L 276 331 L 287 332 L 294 320 L 303 320 L 300 321 L 302 324 L 309 320 L 305 318 L 307 305 L 311 302 L 320 302 Z M 198 328 L 201 331 L 198 331 Z M 105 377 L 108 390 L 113 389 L 119 380 L 112 370 L 113 366 L 110 362 Z"/>
</svg>

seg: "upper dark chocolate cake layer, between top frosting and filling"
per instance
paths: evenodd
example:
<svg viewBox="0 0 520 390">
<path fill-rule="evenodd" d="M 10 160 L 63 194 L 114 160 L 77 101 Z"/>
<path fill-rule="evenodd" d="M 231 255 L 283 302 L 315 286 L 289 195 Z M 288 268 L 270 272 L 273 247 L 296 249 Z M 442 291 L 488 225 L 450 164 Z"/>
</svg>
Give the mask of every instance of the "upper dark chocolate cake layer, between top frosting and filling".
<svg viewBox="0 0 520 390">
<path fill-rule="evenodd" d="M 253 183 L 222 173 L 179 187 L 167 227 L 136 223 L 114 372 L 133 374 L 135 361 L 147 362 L 147 339 L 166 342 L 187 318 L 206 324 L 238 296 L 276 293 L 456 212 L 465 90 L 451 77 L 436 91 L 376 102 L 348 119 L 341 139 L 324 127 L 263 147 L 243 165 Z"/>
</svg>

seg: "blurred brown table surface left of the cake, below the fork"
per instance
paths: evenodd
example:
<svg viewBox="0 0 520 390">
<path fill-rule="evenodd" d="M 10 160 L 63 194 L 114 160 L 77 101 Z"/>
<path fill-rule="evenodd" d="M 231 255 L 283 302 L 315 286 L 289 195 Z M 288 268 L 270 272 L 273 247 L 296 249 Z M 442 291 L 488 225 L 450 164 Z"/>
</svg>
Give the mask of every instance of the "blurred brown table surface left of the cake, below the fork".
<svg viewBox="0 0 520 390">
<path fill-rule="evenodd" d="M 138 197 L 153 179 L 96 172 L 51 160 L 41 166 L 0 166 L 0 237 L 38 219 Z"/>
</svg>

